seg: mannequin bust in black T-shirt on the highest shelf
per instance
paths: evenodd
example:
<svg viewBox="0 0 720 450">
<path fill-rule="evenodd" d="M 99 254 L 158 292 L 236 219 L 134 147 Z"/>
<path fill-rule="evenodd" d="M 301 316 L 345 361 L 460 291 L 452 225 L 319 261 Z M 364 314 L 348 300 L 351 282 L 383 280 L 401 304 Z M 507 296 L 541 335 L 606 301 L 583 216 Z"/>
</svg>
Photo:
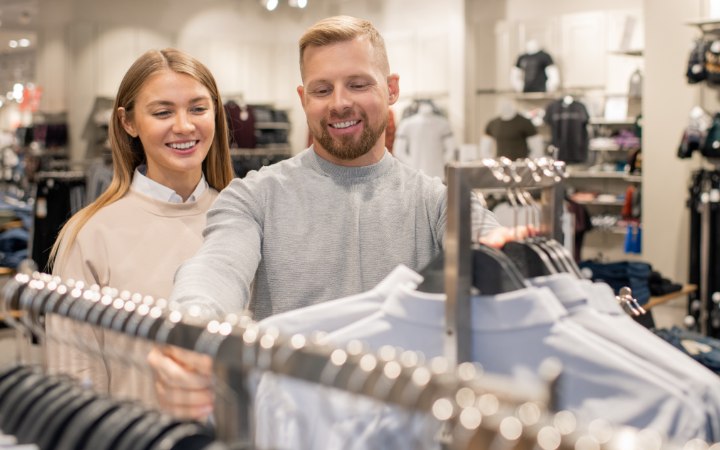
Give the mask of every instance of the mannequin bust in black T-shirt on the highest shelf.
<svg viewBox="0 0 720 450">
<path fill-rule="evenodd" d="M 530 39 L 510 70 L 510 84 L 516 92 L 554 92 L 560 86 L 560 71 L 538 41 Z"/>
</svg>

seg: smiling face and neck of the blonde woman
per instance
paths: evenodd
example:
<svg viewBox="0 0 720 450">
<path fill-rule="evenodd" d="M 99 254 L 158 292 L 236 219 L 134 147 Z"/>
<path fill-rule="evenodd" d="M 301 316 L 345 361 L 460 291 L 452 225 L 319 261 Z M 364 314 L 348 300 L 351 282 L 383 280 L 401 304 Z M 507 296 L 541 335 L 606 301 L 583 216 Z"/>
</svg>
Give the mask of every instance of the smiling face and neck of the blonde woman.
<svg viewBox="0 0 720 450">
<path fill-rule="evenodd" d="M 147 79 L 130 114 L 123 108 L 119 113 L 125 131 L 142 142 L 150 179 L 177 192 L 197 185 L 215 136 L 215 110 L 205 86 L 163 70 Z"/>
</svg>

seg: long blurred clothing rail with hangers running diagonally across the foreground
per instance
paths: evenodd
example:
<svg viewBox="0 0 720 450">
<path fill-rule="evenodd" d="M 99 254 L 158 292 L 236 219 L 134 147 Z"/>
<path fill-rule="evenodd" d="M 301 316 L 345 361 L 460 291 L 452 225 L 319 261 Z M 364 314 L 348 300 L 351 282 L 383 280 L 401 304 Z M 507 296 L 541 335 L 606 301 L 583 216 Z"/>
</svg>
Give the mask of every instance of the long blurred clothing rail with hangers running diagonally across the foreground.
<svg viewBox="0 0 720 450">
<path fill-rule="evenodd" d="M 367 353 L 362 346 L 346 349 L 321 345 L 299 335 L 281 336 L 262 330 L 247 316 L 201 321 L 183 316 L 162 299 L 118 293 L 97 286 L 64 282 L 34 272 L 19 273 L 2 291 L 0 312 L 18 330 L 42 332 L 44 318 L 58 314 L 76 321 L 114 330 L 157 344 L 171 344 L 210 355 L 227 385 L 229 376 L 250 370 L 269 371 L 323 386 L 360 394 L 425 412 L 445 425 L 452 449 L 488 448 L 593 448 L 618 449 L 640 440 L 639 432 L 623 430 L 598 442 L 567 413 L 552 413 L 544 388 L 510 383 L 507 379 L 481 375 L 472 364 L 450 365 L 442 359 L 418 363 L 410 353 Z M 237 380 L 233 383 L 237 385 Z M 250 436 L 247 418 L 216 417 L 218 438 L 237 443 Z M 568 423 L 572 425 L 568 428 Z M 238 428 L 240 428 L 238 430 Z M 624 445 L 624 446 L 623 446 Z M 579 446 L 579 447 L 578 447 Z M 233 447 L 236 448 L 236 447 Z M 249 446 L 242 448 L 252 448 Z"/>
</svg>

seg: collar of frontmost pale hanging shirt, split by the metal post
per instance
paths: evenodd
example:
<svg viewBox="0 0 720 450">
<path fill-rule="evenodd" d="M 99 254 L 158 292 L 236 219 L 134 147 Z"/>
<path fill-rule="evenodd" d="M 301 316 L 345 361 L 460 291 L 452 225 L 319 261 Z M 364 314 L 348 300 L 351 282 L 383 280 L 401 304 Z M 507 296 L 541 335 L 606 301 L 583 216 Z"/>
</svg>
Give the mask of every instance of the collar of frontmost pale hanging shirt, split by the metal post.
<svg viewBox="0 0 720 450">
<path fill-rule="evenodd" d="M 434 327 L 445 325 L 445 294 L 401 288 L 383 303 L 392 317 Z M 476 331 L 517 330 L 550 325 L 567 311 L 548 288 L 526 288 L 470 298 L 471 328 Z"/>
</svg>

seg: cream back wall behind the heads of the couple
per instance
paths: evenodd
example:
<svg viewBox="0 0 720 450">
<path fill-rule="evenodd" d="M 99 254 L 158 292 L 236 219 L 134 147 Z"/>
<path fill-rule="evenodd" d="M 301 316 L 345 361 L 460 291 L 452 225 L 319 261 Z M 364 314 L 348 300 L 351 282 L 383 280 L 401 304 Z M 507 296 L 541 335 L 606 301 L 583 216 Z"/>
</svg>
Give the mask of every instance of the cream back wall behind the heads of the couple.
<svg viewBox="0 0 720 450">
<path fill-rule="evenodd" d="M 314 0 L 306 10 L 281 5 L 273 12 L 254 0 L 43 0 L 40 9 L 41 109 L 69 112 L 76 160 L 85 154 L 83 128 L 94 98 L 114 96 L 140 53 L 165 46 L 208 65 L 223 94 L 287 108 L 291 145 L 301 150 L 307 126 L 295 91 L 297 40 L 309 25 L 334 14 L 372 20 L 386 37 L 392 69 L 400 73 L 401 98 L 437 96 L 455 133 L 464 133 L 465 72 L 453 70 L 465 66 L 463 0 Z"/>
</svg>

